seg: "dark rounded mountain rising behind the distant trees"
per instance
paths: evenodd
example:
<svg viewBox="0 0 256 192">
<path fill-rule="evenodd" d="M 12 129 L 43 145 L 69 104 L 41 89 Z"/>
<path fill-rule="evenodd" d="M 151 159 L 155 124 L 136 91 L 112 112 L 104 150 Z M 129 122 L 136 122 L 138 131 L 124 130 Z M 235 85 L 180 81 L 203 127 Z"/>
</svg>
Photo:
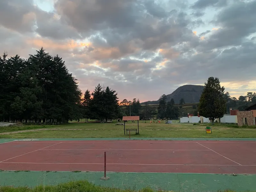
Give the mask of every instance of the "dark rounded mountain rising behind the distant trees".
<svg viewBox="0 0 256 192">
<path fill-rule="evenodd" d="M 166 95 L 166 102 L 170 101 L 173 98 L 175 103 L 179 103 L 180 99 L 183 98 L 185 103 L 198 103 L 203 90 L 204 90 L 204 86 L 202 85 L 183 85 L 178 89 L 176 89 L 171 94 Z M 148 101 L 149 105 L 158 104 L 158 103 L 159 103 L 159 100 Z M 141 104 L 143 105 L 145 104 L 145 102 Z"/>
</svg>

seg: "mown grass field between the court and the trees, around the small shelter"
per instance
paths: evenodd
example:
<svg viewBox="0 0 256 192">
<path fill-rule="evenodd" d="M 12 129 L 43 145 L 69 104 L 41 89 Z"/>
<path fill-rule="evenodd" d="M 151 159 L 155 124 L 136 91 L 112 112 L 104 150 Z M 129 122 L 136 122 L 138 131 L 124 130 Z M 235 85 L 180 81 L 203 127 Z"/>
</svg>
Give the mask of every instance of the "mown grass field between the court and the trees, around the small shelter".
<svg viewBox="0 0 256 192">
<path fill-rule="evenodd" d="M 113 123 L 68 123 L 62 125 L 23 125 L 1 127 L 0 138 L 109 138 L 124 136 L 124 126 Z M 210 125 L 212 134 L 205 133 L 208 124 L 165 124 L 140 121 L 140 134 L 131 137 L 161 138 L 256 138 L 256 126 Z M 125 128 L 137 128 L 137 122 L 126 123 Z"/>
</svg>

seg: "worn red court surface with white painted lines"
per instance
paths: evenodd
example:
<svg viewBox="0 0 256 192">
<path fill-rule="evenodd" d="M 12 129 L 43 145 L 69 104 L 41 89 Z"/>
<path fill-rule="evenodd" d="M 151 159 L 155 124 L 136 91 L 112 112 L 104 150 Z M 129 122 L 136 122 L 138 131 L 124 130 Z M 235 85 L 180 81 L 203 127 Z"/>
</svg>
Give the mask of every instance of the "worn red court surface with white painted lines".
<svg viewBox="0 0 256 192">
<path fill-rule="evenodd" d="M 12 141 L 0 169 L 256 174 L 256 141 Z"/>
</svg>

